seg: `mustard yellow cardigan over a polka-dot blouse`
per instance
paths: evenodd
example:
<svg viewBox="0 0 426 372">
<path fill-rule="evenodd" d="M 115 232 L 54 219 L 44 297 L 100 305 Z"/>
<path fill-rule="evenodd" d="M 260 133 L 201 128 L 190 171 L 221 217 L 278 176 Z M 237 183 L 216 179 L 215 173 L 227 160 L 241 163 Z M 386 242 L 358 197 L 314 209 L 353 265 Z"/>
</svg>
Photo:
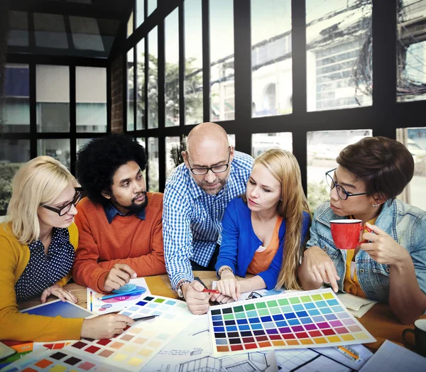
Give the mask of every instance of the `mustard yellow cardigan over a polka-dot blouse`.
<svg viewBox="0 0 426 372">
<path fill-rule="evenodd" d="M 68 227 L 70 243 L 77 249 L 78 229 Z M 0 340 L 56 341 L 80 339 L 83 320 L 62 317 L 43 317 L 22 314 L 16 303 L 15 283 L 21 277 L 30 259 L 28 245 L 22 245 L 11 233 L 10 226 L 0 224 Z M 58 281 L 64 286 L 71 275 Z"/>
</svg>

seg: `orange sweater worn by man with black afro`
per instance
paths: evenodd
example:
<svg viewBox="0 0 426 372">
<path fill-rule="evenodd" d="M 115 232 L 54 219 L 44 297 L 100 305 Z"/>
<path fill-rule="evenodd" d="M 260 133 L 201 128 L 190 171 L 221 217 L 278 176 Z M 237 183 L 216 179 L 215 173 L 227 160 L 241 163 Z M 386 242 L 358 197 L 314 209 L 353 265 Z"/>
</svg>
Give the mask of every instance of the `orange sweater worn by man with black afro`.
<svg viewBox="0 0 426 372">
<path fill-rule="evenodd" d="M 126 263 L 138 276 L 165 273 L 163 249 L 163 194 L 148 192 L 146 219 L 114 217 L 111 224 L 101 204 L 87 197 L 77 205 L 75 216 L 80 239 L 72 277 L 75 282 L 97 292 L 116 263 Z"/>
</svg>

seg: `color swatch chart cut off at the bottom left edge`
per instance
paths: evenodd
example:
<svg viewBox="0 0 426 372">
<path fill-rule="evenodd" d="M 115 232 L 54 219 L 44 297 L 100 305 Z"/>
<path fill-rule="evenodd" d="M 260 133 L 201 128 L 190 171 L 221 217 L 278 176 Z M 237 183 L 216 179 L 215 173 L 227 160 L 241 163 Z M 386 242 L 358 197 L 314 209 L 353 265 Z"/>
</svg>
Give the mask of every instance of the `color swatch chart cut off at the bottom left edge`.
<svg viewBox="0 0 426 372">
<path fill-rule="evenodd" d="M 70 350 L 46 350 L 33 352 L 19 361 L 16 361 L 6 368 L 7 372 L 119 372 L 126 371 L 115 366 L 107 366 L 107 364 L 96 361 L 89 361 L 78 356 Z"/>
</svg>

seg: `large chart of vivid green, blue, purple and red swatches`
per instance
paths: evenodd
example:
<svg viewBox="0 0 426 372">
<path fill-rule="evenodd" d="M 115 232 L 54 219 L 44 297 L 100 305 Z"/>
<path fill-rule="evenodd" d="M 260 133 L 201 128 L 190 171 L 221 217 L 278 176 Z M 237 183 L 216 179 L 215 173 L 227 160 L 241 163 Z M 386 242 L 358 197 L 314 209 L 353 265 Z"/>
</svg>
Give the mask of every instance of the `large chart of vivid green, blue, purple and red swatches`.
<svg viewBox="0 0 426 372">
<path fill-rule="evenodd" d="M 376 341 L 331 289 L 214 306 L 209 310 L 209 327 L 217 356 Z"/>
</svg>

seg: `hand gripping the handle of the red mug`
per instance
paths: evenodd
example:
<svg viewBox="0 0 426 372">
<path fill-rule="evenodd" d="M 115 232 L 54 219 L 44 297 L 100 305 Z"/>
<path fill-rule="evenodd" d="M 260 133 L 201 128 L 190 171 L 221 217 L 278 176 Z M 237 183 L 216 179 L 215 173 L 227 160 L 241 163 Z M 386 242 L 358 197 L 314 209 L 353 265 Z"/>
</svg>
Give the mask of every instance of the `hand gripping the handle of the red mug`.
<svg viewBox="0 0 426 372">
<path fill-rule="evenodd" d="M 361 249 L 366 251 L 374 261 L 385 265 L 395 265 L 410 258 L 410 253 L 380 227 L 371 224 L 366 224 L 366 226 L 375 234 L 364 233 L 363 239 L 370 241 L 370 243 L 361 244 Z"/>
</svg>

